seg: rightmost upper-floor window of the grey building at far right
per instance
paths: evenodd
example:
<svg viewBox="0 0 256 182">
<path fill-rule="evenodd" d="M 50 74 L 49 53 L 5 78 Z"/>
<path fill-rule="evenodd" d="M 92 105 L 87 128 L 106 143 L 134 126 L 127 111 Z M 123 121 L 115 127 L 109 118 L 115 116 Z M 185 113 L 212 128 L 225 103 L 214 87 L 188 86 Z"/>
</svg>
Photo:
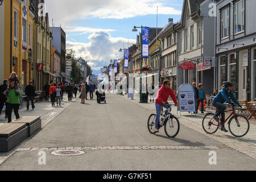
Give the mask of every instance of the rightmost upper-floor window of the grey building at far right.
<svg viewBox="0 0 256 182">
<path fill-rule="evenodd" d="M 245 3 L 243 0 L 234 4 L 234 32 L 235 34 L 245 30 Z"/>
</svg>

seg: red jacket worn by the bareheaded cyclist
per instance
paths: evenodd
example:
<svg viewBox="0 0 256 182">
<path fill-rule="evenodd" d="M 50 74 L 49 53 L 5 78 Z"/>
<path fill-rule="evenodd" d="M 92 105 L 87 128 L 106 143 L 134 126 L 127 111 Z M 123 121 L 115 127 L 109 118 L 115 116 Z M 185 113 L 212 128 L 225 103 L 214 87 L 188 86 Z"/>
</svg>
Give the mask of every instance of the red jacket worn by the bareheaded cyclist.
<svg viewBox="0 0 256 182">
<path fill-rule="evenodd" d="M 167 102 L 169 96 L 171 96 L 172 100 L 175 104 L 177 104 L 176 96 L 172 89 L 165 88 L 164 85 L 158 90 L 158 95 L 156 96 L 155 103 L 163 105 L 163 102 Z"/>
</svg>

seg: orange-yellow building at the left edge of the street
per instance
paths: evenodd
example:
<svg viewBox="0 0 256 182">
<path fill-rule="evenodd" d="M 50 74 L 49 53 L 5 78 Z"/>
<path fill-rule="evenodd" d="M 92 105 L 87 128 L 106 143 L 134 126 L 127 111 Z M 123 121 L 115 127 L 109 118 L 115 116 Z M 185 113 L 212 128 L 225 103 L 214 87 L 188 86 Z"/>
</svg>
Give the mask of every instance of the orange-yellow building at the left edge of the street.
<svg viewBox="0 0 256 182">
<path fill-rule="evenodd" d="M 19 86 L 24 88 L 32 80 L 28 51 L 33 48 L 35 8 L 29 0 L 4 1 L 1 6 L 4 6 L 5 16 L 3 76 L 9 78 L 11 72 L 16 72 Z"/>
</svg>

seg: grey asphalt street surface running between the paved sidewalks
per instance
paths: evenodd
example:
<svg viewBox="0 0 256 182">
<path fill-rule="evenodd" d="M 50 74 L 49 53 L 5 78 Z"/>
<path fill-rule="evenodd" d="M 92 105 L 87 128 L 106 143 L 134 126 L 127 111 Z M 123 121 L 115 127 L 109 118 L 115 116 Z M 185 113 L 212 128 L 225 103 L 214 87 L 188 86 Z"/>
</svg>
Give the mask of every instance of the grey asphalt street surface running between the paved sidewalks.
<svg viewBox="0 0 256 182">
<path fill-rule="evenodd" d="M 38 151 L 19 151 L 5 160 L 0 170 L 256 169 L 255 159 L 182 125 L 175 139 L 167 138 L 163 129 L 152 135 L 147 130 L 150 110 L 121 96 L 106 97 L 107 104 L 97 104 L 96 100 L 88 100 L 85 105 L 80 100 L 73 102 L 20 148 L 180 146 L 181 149 L 86 150 L 80 156 L 54 156 L 46 151 L 45 165 L 38 164 Z M 204 149 L 205 146 L 217 149 Z M 216 165 L 209 164 L 210 151 L 217 154 Z"/>
</svg>

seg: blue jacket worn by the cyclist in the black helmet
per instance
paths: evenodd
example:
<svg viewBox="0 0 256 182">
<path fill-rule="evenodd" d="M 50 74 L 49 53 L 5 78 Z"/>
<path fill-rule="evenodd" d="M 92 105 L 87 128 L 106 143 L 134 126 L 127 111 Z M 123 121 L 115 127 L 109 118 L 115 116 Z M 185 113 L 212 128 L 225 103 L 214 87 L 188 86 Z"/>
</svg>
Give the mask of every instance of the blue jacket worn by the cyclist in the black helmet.
<svg viewBox="0 0 256 182">
<path fill-rule="evenodd" d="M 229 97 L 235 104 L 240 105 L 239 102 L 234 97 L 233 93 L 231 91 L 228 91 L 228 89 L 226 89 L 225 86 L 220 90 L 220 92 L 218 92 L 217 96 L 213 98 L 213 101 L 220 102 L 221 104 L 223 104 L 225 101 L 230 102 Z"/>
</svg>

